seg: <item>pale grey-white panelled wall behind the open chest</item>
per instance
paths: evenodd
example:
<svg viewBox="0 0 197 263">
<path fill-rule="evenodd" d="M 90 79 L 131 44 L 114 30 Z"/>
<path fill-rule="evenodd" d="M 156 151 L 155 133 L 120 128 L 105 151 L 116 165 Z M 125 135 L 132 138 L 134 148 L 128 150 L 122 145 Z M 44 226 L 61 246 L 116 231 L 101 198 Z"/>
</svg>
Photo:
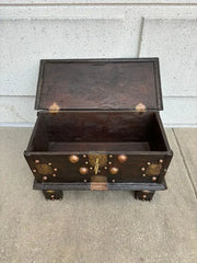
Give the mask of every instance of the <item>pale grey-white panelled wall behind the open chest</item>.
<svg viewBox="0 0 197 263">
<path fill-rule="evenodd" d="M 160 57 L 165 126 L 197 126 L 197 0 L 0 0 L 0 125 L 32 125 L 42 58 Z"/>
</svg>

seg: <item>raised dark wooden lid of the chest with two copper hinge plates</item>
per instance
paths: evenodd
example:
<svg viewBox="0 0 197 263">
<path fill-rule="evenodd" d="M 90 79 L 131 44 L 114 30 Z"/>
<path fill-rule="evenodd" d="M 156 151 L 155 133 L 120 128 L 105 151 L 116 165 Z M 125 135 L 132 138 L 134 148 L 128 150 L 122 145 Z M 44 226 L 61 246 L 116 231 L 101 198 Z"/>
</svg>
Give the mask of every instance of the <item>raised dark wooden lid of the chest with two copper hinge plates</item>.
<svg viewBox="0 0 197 263">
<path fill-rule="evenodd" d="M 159 59 L 40 60 L 36 110 L 159 111 Z"/>
</svg>

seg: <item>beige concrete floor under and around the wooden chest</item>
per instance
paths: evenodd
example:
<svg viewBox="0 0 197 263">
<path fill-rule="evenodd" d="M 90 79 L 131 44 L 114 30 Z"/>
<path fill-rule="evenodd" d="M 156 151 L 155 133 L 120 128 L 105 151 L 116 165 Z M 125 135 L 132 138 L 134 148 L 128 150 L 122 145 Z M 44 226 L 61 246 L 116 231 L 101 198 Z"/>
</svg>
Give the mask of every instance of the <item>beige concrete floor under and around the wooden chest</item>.
<svg viewBox="0 0 197 263">
<path fill-rule="evenodd" d="M 0 128 L 0 263 L 197 262 L 197 129 L 167 129 L 169 190 L 45 201 L 23 158 L 31 128 Z"/>
</svg>

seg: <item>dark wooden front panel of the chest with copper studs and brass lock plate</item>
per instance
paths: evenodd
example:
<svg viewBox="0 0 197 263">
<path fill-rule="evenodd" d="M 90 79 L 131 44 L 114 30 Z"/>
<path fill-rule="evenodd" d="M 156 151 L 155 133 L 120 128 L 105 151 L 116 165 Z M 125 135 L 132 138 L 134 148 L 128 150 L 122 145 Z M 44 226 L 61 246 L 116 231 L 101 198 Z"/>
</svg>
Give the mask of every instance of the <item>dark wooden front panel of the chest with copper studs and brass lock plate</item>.
<svg viewBox="0 0 197 263">
<path fill-rule="evenodd" d="M 162 155 L 25 156 L 37 182 L 160 183 L 171 158 Z"/>
</svg>

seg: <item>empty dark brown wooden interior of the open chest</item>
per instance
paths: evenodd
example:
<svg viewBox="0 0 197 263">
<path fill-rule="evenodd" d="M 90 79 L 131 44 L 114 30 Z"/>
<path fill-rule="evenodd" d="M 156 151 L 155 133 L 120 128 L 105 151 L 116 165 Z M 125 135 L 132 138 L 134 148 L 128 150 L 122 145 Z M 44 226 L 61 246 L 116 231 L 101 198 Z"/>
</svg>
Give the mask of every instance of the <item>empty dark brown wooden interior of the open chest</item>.
<svg viewBox="0 0 197 263">
<path fill-rule="evenodd" d="M 158 113 L 40 112 L 28 151 L 166 151 Z"/>
</svg>

